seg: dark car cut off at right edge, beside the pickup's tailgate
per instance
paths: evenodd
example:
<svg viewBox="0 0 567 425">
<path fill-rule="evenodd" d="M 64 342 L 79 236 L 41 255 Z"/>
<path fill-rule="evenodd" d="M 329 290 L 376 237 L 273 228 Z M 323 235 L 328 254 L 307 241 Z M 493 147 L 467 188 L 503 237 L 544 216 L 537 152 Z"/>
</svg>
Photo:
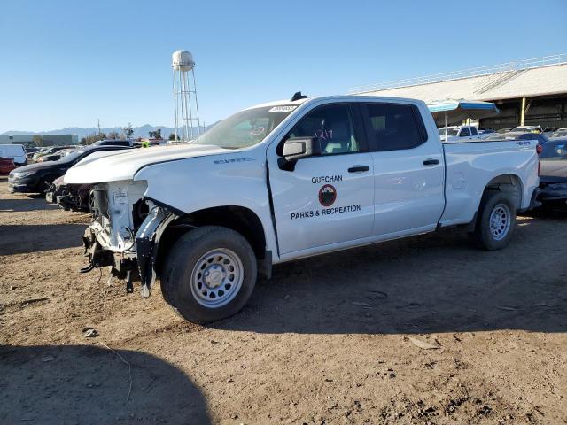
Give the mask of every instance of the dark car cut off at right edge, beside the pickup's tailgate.
<svg viewBox="0 0 567 425">
<path fill-rule="evenodd" d="M 567 208 L 567 139 L 542 143 L 540 153 L 540 195 L 551 208 Z"/>
</svg>

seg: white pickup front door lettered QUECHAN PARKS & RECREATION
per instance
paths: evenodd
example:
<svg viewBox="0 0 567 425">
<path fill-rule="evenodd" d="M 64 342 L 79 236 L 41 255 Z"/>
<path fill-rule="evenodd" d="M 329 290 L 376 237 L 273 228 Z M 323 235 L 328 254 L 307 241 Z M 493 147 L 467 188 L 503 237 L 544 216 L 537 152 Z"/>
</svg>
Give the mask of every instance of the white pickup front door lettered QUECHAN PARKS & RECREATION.
<svg viewBox="0 0 567 425">
<path fill-rule="evenodd" d="M 322 155 L 299 159 L 292 171 L 270 166 L 280 255 L 371 235 L 374 166 L 354 122 L 350 104 L 322 105 L 284 137 L 316 137 Z"/>
</svg>

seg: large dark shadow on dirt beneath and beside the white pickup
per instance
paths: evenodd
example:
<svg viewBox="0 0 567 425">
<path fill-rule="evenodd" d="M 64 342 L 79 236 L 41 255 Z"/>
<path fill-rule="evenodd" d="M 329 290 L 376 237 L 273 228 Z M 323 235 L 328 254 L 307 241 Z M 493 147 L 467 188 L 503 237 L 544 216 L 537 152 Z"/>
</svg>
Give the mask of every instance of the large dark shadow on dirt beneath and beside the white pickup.
<svg viewBox="0 0 567 425">
<path fill-rule="evenodd" d="M 460 229 L 285 263 L 212 328 L 265 333 L 567 332 L 565 220 L 519 222 L 506 250 Z M 526 247 L 529 251 L 526 251 Z"/>
</svg>

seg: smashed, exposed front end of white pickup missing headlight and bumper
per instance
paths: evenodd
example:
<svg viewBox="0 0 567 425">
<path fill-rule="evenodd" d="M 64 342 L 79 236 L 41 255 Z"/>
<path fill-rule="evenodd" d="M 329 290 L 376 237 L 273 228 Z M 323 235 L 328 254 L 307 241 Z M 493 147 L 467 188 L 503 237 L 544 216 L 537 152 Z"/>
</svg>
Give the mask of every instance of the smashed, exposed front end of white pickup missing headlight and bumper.
<svg viewBox="0 0 567 425">
<path fill-rule="evenodd" d="M 144 197 L 146 188 L 145 182 L 132 181 L 95 186 L 93 219 L 82 236 L 89 265 L 81 273 L 110 267 L 109 279 L 126 279 L 127 292 L 134 291 L 132 282 L 139 277 L 142 296 L 149 297 L 159 240 L 179 212 Z"/>
</svg>

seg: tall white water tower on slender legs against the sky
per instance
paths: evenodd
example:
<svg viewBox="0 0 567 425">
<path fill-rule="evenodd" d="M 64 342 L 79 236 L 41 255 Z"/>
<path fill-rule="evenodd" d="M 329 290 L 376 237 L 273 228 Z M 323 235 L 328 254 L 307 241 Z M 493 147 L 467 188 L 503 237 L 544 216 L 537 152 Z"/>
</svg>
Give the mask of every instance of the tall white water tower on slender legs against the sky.
<svg viewBox="0 0 567 425">
<path fill-rule="evenodd" d="M 174 51 L 171 67 L 174 72 L 175 141 L 179 138 L 189 142 L 198 136 L 201 128 L 193 55 L 185 50 Z"/>
</svg>

